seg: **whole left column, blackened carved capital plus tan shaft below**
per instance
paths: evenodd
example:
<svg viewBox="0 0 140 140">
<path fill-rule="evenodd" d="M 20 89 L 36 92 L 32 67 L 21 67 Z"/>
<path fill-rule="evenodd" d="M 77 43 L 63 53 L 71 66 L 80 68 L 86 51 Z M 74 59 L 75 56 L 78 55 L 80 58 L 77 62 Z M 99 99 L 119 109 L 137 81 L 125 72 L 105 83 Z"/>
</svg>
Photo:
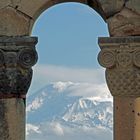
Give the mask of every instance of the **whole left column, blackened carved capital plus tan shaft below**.
<svg viewBox="0 0 140 140">
<path fill-rule="evenodd" d="M 36 43 L 35 37 L 0 37 L 0 140 L 25 140 L 25 101 Z"/>
</svg>

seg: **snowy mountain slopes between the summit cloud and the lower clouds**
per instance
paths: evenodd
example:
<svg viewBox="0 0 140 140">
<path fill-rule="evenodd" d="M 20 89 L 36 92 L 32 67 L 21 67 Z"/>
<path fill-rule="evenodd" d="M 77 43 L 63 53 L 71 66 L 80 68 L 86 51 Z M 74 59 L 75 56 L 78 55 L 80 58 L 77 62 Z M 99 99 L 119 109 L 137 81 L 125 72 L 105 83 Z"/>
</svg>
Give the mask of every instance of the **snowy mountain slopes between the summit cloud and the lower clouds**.
<svg viewBox="0 0 140 140">
<path fill-rule="evenodd" d="M 94 94 L 92 97 L 73 95 L 85 84 L 51 83 L 29 96 L 27 123 L 38 126 L 40 131 L 42 127 L 44 128 L 44 124 L 47 124 L 47 127 L 52 123 L 68 128 L 102 128 L 112 131 L 113 111 L 110 99 L 104 101 Z M 32 131 L 35 132 L 33 129 Z"/>
</svg>

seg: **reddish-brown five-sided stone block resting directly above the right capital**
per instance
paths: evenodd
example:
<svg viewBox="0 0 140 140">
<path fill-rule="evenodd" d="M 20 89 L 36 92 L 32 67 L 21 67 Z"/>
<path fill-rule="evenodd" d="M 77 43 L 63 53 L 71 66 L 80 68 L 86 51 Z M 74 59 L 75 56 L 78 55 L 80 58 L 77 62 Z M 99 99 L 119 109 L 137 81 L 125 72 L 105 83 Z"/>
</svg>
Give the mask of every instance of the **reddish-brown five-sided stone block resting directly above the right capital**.
<svg viewBox="0 0 140 140">
<path fill-rule="evenodd" d="M 124 8 L 121 12 L 107 19 L 110 36 L 140 35 L 140 15 Z"/>
</svg>

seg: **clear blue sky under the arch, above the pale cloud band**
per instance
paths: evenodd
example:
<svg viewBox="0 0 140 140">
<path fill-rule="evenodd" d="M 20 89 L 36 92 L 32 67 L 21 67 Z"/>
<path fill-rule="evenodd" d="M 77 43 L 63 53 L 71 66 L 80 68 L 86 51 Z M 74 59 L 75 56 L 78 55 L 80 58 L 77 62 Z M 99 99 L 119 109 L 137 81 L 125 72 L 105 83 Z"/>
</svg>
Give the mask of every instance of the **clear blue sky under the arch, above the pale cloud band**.
<svg viewBox="0 0 140 140">
<path fill-rule="evenodd" d="M 107 25 L 90 7 L 64 3 L 46 10 L 34 25 L 39 64 L 98 67 L 97 38 L 108 36 Z"/>
</svg>

